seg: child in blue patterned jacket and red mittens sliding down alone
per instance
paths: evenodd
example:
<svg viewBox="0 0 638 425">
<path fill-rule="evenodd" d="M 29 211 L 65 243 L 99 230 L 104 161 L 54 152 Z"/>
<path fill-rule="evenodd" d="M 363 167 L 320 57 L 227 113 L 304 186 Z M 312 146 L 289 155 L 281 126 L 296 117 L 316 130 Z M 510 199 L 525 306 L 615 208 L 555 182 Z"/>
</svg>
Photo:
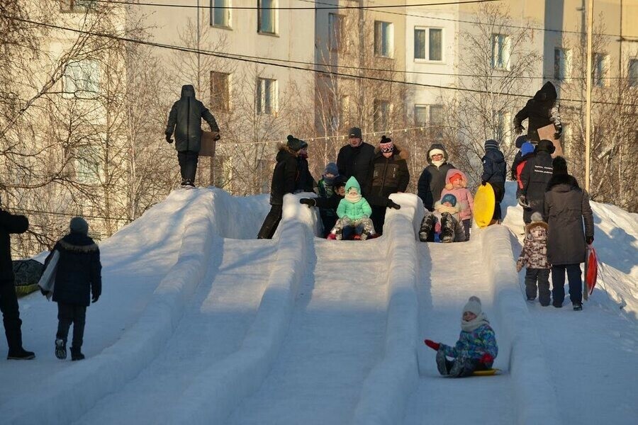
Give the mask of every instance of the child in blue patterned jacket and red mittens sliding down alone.
<svg viewBox="0 0 638 425">
<path fill-rule="evenodd" d="M 478 297 L 469 297 L 463 307 L 461 335 L 454 346 L 425 340 L 425 345 L 437 351 L 439 373 L 451 378 L 464 378 L 476 370 L 489 370 L 498 355 L 496 336 Z M 454 360 L 448 360 L 448 357 Z"/>
</svg>

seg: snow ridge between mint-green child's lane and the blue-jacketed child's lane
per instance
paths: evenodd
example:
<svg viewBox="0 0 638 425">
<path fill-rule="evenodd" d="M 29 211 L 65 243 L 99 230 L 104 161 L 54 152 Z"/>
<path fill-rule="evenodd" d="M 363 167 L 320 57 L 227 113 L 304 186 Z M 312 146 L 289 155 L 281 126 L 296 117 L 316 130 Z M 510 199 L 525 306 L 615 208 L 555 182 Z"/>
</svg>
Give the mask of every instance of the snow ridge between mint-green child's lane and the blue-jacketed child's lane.
<svg viewBox="0 0 638 425">
<path fill-rule="evenodd" d="M 364 381 L 354 424 L 398 424 L 418 383 L 418 299 L 415 280 L 419 267 L 416 239 L 423 204 L 415 195 L 394 194 L 401 210 L 388 210 L 384 238 L 388 239 L 386 351 Z"/>
</svg>

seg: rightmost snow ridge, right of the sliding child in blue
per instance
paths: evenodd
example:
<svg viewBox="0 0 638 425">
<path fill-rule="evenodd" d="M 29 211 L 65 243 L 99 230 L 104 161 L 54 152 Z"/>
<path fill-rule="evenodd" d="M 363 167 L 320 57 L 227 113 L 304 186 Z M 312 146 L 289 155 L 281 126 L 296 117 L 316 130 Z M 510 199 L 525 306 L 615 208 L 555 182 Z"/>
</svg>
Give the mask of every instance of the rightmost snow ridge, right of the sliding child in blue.
<svg viewBox="0 0 638 425">
<path fill-rule="evenodd" d="M 474 236 L 476 235 L 476 236 Z M 509 373 L 519 424 L 559 424 L 556 390 L 535 323 L 522 300 L 510 232 L 504 226 L 475 230 L 481 239 L 483 262 L 492 281 L 496 319 L 511 341 Z"/>
</svg>

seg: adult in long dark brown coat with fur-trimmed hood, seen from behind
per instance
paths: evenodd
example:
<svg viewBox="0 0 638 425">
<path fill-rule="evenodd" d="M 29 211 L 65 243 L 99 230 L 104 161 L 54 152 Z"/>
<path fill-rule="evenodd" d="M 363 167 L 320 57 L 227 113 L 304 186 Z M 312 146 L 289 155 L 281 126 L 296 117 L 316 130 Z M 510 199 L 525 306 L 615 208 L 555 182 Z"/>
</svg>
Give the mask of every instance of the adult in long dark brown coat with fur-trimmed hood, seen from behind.
<svg viewBox="0 0 638 425">
<path fill-rule="evenodd" d="M 563 305 L 566 272 L 573 310 L 583 310 L 580 263 L 585 261 L 586 244 L 593 242 L 593 214 L 588 193 L 578 186 L 573 176 L 567 174 L 563 157 L 554 159 L 554 175 L 545 193 L 544 218 L 549 225 L 547 261 L 552 264 L 554 307 Z"/>
</svg>

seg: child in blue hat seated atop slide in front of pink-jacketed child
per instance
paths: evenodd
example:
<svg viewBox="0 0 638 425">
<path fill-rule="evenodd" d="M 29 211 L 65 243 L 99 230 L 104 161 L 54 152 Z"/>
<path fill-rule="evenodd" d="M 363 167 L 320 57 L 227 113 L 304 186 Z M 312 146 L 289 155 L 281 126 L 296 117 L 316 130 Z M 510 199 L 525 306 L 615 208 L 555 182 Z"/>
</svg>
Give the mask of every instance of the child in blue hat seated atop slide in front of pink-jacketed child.
<svg viewBox="0 0 638 425">
<path fill-rule="evenodd" d="M 452 193 L 445 194 L 434 205 L 435 211 L 425 211 L 425 217 L 421 221 L 419 239 L 427 241 L 427 234 L 432 228 L 440 234 L 441 242 L 464 242 L 465 231 L 461 225 L 461 211 L 469 208 L 469 205 L 457 203 L 457 197 Z"/>
</svg>

